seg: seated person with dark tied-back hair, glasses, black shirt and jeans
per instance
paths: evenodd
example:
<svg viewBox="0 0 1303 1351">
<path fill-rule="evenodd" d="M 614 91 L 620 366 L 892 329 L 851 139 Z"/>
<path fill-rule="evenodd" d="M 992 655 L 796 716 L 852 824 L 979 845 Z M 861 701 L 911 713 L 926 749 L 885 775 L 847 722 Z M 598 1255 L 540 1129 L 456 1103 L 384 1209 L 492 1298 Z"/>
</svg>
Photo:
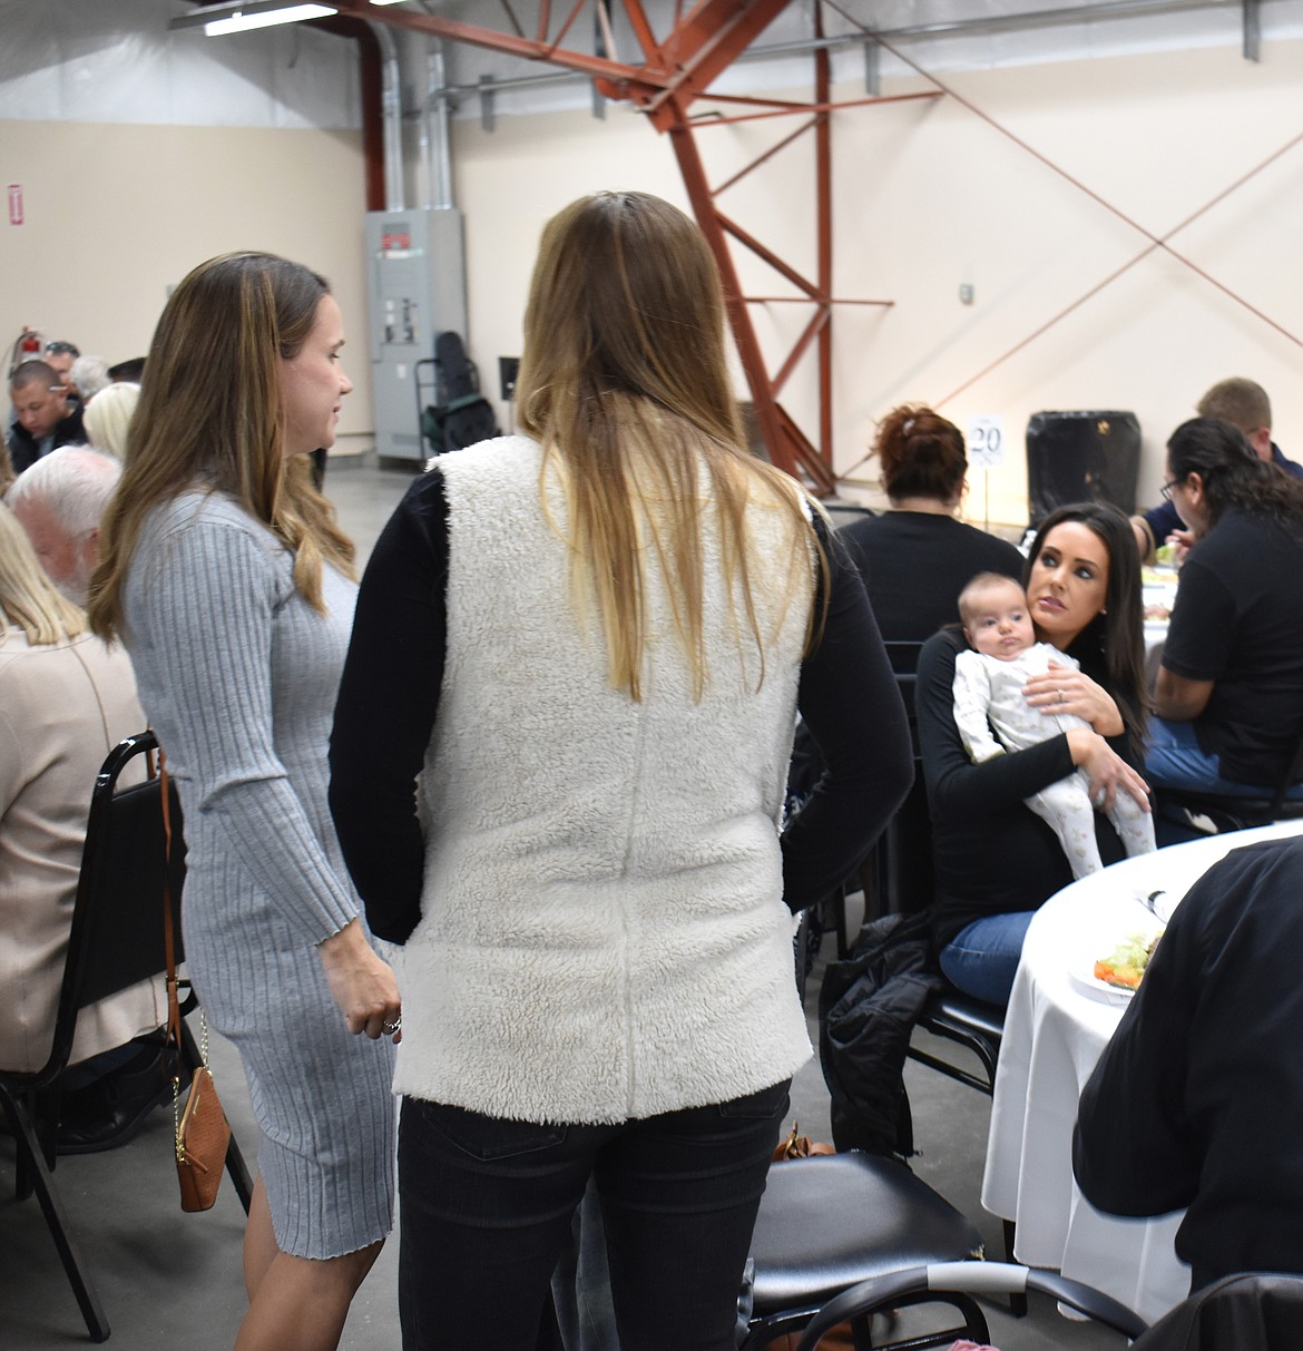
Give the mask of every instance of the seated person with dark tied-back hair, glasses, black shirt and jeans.
<svg viewBox="0 0 1303 1351">
<path fill-rule="evenodd" d="M 1303 482 L 1213 417 L 1172 432 L 1167 474 L 1199 547 L 1172 608 L 1145 773 L 1269 797 L 1303 727 Z"/>
</svg>

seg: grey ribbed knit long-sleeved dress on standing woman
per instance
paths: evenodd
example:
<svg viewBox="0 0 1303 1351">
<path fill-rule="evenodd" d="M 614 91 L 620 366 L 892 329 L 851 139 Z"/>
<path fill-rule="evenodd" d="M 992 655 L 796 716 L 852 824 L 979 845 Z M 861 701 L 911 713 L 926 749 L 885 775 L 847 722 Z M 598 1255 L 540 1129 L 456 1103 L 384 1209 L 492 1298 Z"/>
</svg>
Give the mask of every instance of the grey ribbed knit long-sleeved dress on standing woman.
<svg viewBox="0 0 1303 1351">
<path fill-rule="evenodd" d="M 325 567 L 323 617 L 292 570 L 228 499 L 185 493 L 140 535 L 123 636 L 185 812 L 186 961 L 248 1075 L 275 1239 L 328 1258 L 393 1227 L 393 1046 L 347 1031 L 316 952 L 359 917 L 325 804 L 356 588 Z"/>
</svg>

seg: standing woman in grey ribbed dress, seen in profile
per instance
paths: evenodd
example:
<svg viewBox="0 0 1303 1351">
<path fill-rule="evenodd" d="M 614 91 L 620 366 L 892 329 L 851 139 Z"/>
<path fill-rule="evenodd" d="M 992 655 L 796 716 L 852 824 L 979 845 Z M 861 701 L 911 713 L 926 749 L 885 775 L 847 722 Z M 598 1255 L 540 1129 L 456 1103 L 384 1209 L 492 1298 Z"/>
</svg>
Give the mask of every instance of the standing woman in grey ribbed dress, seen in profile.
<svg viewBox="0 0 1303 1351">
<path fill-rule="evenodd" d="M 262 1128 L 238 1351 L 338 1346 L 393 1223 L 398 989 L 325 804 L 356 588 L 307 453 L 335 439 L 342 346 L 308 269 L 194 269 L 154 335 L 93 584 L 181 793 L 194 986 Z"/>
</svg>

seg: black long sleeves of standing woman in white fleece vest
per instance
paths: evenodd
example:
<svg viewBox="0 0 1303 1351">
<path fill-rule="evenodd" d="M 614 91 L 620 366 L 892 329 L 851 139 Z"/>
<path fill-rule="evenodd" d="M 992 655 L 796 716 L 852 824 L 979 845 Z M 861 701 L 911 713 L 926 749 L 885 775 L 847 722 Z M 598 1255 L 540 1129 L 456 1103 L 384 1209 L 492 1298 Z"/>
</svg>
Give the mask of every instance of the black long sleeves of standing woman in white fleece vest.
<svg viewBox="0 0 1303 1351">
<path fill-rule="evenodd" d="M 432 470 L 398 504 L 362 578 L 331 736 L 331 811 L 344 858 L 373 932 L 396 943 L 420 919 L 416 777 L 443 682 L 448 524 L 443 477 Z M 841 884 L 913 778 L 905 711 L 864 586 L 832 544 L 828 555 L 826 627 L 797 696 L 828 769 L 782 836 L 793 911 Z"/>
</svg>

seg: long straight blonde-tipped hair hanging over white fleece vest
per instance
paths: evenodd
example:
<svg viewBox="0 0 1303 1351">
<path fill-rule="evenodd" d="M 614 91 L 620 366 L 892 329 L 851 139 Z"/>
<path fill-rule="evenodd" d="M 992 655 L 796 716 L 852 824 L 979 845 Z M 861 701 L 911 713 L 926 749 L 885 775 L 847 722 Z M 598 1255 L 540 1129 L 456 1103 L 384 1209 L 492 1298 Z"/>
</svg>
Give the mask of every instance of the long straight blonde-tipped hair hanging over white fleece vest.
<svg viewBox="0 0 1303 1351">
<path fill-rule="evenodd" d="M 786 566 L 790 600 L 801 586 L 813 589 L 816 567 L 826 578 L 828 559 L 812 524 L 817 508 L 745 449 L 718 274 L 687 216 L 648 193 L 601 192 L 548 222 L 525 311 L 518 399 L 523 427 L 544 447 L 540 494 L 552 471 L 564 488 L 573 600 L 581 613 L 589 597 L 597 603 L 612 685 L 641 697 L 645 521 L 701 697 L 709 678 L 705 499 L 714 501 L 724 577 L 763 680 L 753 573 Z M 753 500 L 787 513 L 789 559 L 756 557 L 747 528 Z M 818 623 L 812 607 L 807 644 Z"/>
</svg>

